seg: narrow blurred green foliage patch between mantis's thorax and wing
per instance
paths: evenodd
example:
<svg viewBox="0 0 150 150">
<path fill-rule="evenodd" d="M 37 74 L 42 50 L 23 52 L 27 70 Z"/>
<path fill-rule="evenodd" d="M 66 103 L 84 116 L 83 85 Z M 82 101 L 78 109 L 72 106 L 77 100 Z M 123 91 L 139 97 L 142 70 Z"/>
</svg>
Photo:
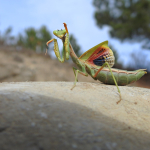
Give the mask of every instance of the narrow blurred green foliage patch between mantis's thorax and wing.
<svg viewBox="0 0 150 150">
<path fill-rule="evenodd" d="M 74 52 L 76 53 L 76 55 L 79 57 L 81 55 L 81 48 L 80 46 L 77 44 L 77 40 L 75 39 L 75 37 L 73 36 L 73 34 L 70 34 L 69 36 L 69 41 L 74 49 Z"/>
</svg>

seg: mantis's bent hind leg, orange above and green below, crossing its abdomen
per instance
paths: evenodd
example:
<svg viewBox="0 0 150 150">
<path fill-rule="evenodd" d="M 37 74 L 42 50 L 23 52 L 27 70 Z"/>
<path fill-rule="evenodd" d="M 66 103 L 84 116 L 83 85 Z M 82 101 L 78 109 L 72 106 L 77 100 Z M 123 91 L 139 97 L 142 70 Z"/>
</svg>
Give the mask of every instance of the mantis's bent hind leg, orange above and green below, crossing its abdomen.
<svg viewBox="0 0 150 150">
<path fill-rule="evenodd" d="M 112 70 L 111 70 L 109 64 L 108 64 L 107 62 L 105 62 L 105 63 L 102 65 L 102 67 L 93 75 L 93 77 L 95 78 L 95 77 L 98 75 L 98 73 L 99 73 L 105 66 L 108 66 L 109 71 L 110 71 L 110 73 L 111 73 L 111 75 L 112 75 L 112 78 L 113 78 L 113 80 L 114 80 L 114 82 L 115 82 L 115 85 L 116 85 L 116 87 L 117 87 L 117 89 L 118 89 L 118 93 L 119 93 L 119 96 L 120 96 L 120 100 L 117 102 L 117 104 L 118 104 L 118 103 L 121 101 L 121 93 L 120 93 L 120 89 L 119 89 L 119 87 L 118 87 L 118 84 L 117 84 L 117 82 L 116 82 L 116 79 L 115 79 L 115 77 L 114 77 L 114 75 L 113 75 L 113 73 L 112 73 Z"/>
</svg>

